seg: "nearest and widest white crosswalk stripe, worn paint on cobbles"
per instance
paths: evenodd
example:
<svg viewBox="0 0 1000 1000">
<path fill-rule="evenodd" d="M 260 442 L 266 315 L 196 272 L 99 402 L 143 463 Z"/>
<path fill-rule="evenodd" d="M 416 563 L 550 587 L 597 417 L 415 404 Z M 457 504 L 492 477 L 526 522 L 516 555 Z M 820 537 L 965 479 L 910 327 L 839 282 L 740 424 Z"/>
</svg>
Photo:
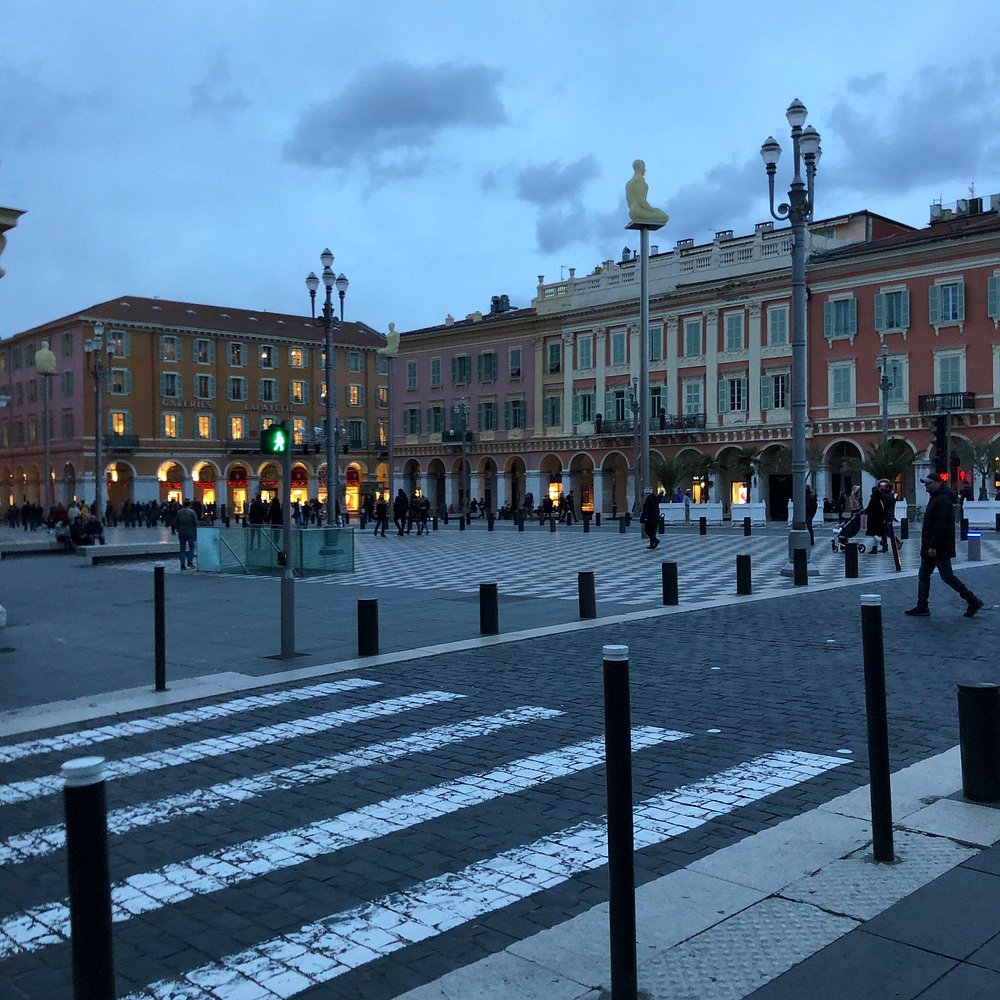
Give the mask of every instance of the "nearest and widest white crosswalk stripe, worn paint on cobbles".
<svg viewBox="0 0 1000 1000">
<path fill-rule="evenodd" d="M 845 761 L 781 751 L 639 803 L 636 846 L 649 847 L 839 767 Z M 586 822 L 403 892 L 161 980 L 126 1000 L 290 998 L 379 958 L 552 888 L 607 860 L 604 822 Z"/>
</svg>

